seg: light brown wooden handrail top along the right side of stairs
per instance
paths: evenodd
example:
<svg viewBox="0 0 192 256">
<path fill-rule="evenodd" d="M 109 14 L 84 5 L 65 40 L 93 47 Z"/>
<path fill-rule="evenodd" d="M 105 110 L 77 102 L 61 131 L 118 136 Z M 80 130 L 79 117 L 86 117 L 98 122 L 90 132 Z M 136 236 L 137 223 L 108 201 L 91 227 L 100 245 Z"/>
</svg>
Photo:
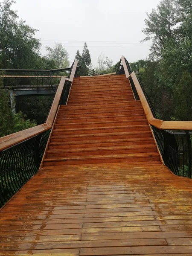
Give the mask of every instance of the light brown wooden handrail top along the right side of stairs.
<svg viewBox="0 0 192 256">
<path fill-rule="evenodd" d="M 129 74 L 124 56 L 121 57 L 121 60 L 125 70 L 126 78 L 128 79 L 131 76 L 131 78 L 133 79 L 135 88 L 140 97 L 140 101 L 145 112 L 146 119 L 148 120 L 148 123 L 150 125 L 153 125 L 160 130 L 192 130 L 192 121 L 163 121 L 154 118 L 151 108 L 148 105 L 147 99 L 145 98 L 145 95 L 137 79 L 136 74 L 134 72 L 132 72 L 131 75 Z"/>
</svg>

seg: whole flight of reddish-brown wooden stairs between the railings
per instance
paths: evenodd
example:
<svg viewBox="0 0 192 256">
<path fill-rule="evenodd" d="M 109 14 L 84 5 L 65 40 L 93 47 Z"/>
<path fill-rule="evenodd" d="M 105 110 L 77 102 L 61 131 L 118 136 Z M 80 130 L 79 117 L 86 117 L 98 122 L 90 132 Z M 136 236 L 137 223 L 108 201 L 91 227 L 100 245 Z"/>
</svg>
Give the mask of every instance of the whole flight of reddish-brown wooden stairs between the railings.
<svg viewBox="0 0 192 256">
<path fill-rule="evenodd" d="M 149 161 L 160 155 L 125 75 L 75 78 L 43 166 Z"/>
</svg>

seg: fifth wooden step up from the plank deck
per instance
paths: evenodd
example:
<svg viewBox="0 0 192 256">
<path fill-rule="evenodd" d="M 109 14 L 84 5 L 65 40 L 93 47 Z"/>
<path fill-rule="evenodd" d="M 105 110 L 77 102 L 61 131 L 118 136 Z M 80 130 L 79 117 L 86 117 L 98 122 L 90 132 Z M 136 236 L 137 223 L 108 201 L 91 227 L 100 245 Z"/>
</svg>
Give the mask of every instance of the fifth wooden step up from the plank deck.
<svg viewBox="0 0 192 256">
<path fill-rule="evenodd" d="M 52 131 L 53 136 L 55 135 L 67 135 L 67 134 L 96 134 L 96 133 L 110 133 L 110 132 L 129 132 L 129 131 L 147 131 L 149 130 L 148 125 L 122 125 L 122 126 L 104 126 L 96 128 L 72 128 L 72 129 L 54 129 Z"/>
</svg>

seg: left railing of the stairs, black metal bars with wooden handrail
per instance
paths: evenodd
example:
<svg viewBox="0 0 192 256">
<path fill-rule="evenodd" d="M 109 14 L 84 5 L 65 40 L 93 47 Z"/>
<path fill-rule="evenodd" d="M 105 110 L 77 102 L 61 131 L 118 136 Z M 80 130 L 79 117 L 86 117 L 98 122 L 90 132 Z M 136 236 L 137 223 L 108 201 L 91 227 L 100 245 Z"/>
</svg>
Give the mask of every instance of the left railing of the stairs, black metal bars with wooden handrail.
<svg viewBox="0 0 192 256">
<path fill-rule="evenodd" d="M 73 77 L 77 76 L 77 61 L 73 67 L 69 79 L 60 79 L 55 94 L 55 99 L 58 95 L 59 98 L 55 102 L 53 100 L 43 125 L 0 138 L 0 207 L 38 171 L 58 106 L 66 105 Z"/>
</svg>

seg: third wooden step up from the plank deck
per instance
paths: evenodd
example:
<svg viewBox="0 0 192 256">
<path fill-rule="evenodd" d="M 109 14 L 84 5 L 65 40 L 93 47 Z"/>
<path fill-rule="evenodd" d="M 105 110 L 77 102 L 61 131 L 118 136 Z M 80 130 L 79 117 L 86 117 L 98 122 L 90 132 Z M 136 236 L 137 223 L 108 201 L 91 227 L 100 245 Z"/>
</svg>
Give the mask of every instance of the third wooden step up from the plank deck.
<svg viewBox="0 0 192 256">
<path fill-rule="evenodd" d="M 49 149 L 59 148 L 91 148 L 91 147 L 111 147 L 124 145 L 146 145 L 154 144 L 152 137 L 131 138 L 131 139 L 111 139 L 111 140 L 84 140 L 84 141 L 63 141 L 49 143 Z"/>
</svg>

